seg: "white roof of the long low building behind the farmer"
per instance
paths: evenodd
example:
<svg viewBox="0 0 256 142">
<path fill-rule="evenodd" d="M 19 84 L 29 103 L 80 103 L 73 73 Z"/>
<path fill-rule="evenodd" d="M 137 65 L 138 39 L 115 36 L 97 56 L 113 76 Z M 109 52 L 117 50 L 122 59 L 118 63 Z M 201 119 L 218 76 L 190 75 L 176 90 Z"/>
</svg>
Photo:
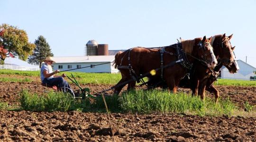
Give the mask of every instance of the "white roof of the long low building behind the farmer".
<svg viewBox="0 0 256 142">
<path fill-rule="evenodd" d="M 53 57 L 56 63 L 71 63 L 71 62 L 112 62 L 115 59 L 111 56 L 75 56 L 75 57 Z"/>
</svg>

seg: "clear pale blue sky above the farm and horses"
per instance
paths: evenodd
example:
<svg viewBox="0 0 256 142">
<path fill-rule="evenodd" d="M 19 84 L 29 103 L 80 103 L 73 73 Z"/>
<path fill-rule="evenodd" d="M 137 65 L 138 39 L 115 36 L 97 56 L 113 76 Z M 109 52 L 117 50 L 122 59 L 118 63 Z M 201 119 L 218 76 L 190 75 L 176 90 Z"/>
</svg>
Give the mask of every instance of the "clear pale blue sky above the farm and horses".
<svg viewBox="0 0 256 142">
<path fill-rule="evenodd" d="M 55 56 L 82 56 L 94 39 L 110 50 L 233 35 L 238 59 L 256 67 L 255 0 L 0 0 L 0 24 L 46 37 Z"/>
</svg>

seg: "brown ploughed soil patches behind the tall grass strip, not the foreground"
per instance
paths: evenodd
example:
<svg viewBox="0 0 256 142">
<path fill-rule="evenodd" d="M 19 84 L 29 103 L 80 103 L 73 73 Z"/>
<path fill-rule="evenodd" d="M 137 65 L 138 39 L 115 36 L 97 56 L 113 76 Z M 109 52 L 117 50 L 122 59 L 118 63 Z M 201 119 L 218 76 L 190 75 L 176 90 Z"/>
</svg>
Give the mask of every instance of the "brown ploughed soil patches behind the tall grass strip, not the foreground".
<svg viewBox="0 0 256 142">
<path fill-rule="evenodd" d="M 22 89 L 27 89 L 32 93 L 42 94 L 46 91 L 51 90 L 51 88 L 46 88 L 40 84 L 39 81 L 32 82 L 0 82 L 0 101 L 9 102 L 9 104 L 13 104 L 17 102 L 18 93 Z M 109 89 L 112 85 L 104 85 L 104 84 L 83 84 L 82 88 L 90 88 L 91 94 L 99 92 L 104 89 Z M 76 90 L 78 89 L 76 86 L 71 84 L 71 87 Z M 218 85 L 220 97 L 221 98 L 229 98 L 232 102 L 234 102 L 238 107 L 243 107 L 243 103 L 246 101 L 251 105 L 256 105 L 256 87 L 240 87 L 240 86 L 221 86 Z M 126 87 L 123 89 L 125 91 Z M 144 89 L 144 88 L 140 88 Z M 190 89 L 179 89 L 179 91 L 186 92 L 188 94 L 191 93 Z M 113 90 L 107 92 L 107 94 L 113 94 Z M 210 94 L 206 91 L 206 96 L 214 98 L 213 94 Z"/>
</svg>

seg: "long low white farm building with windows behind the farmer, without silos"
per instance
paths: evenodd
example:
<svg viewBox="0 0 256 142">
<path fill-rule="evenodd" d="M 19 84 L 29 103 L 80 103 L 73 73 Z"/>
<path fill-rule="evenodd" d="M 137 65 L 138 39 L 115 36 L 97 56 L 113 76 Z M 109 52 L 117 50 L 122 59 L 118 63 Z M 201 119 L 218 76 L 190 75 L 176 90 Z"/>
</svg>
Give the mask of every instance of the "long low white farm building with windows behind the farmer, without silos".
<svg viewBox="0 0 256 142">
<path fill-rule="evenodd" d="M 110 56 L 80 56 L 80 57 L 53 57 L 56 62 L 53 64 L 53 70 L 71 70 L 80 72 L 108 72 L 117 73 L 118 69 L 114 68 L 113 62 L 115 59 L 114 55 Z M 106 63 L 98 66 L 97 64 Z M 82 68 L 89 66 L 88 68 Z M 79 69 L 81 68 L 81 69 Z"/>
</svg>

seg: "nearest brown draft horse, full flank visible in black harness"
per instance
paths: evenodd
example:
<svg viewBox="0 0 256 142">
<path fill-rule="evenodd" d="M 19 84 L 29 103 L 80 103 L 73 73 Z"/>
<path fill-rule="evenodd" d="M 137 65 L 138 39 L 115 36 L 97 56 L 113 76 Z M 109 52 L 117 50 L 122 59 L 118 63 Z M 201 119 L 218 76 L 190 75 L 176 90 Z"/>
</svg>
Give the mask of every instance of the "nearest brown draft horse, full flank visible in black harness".
<svg viewBox="0 0 256 142">
<path fill-rule="evenodd" d="M 121 72 L 122 79 L 118 84 L 127 80 L 136 78 L 146 72 L 154 71 L 161 66 L 168 65 L 170 62 L 177 62 L 172 66 L 166 67 L 163 71 L 156 71 L 155 75 L 149 75 L 152 79 L 162 77 L 166 81 L 167 87 L 173 93 L 176 93 L 179 81 L 189 71 L 184 65 L 185 63 L 192 64 L 196 60 L 203 60 L 209 68 L 214 68 L 217 64 L 215 55 L 213 54 L 210 45 L 211 38 L 195 38 L 193 40 L 184 40 L 180 44 L 160 48 L 131 48 L 123 53 L 119 52 L 115 55 L 115 67 L 118 67 Z M 187 62 L 181 60 L 181 50 L 185 53 Z M 117 84 L 117 85 L 118 85 Z M 128 90 L 134 89 L 136 79 L 128 83 Z M 121 89 L 126 84 L 115 88 L 114 93 L 119 94 Z"/>
</svg>

